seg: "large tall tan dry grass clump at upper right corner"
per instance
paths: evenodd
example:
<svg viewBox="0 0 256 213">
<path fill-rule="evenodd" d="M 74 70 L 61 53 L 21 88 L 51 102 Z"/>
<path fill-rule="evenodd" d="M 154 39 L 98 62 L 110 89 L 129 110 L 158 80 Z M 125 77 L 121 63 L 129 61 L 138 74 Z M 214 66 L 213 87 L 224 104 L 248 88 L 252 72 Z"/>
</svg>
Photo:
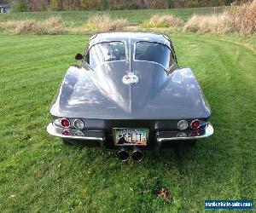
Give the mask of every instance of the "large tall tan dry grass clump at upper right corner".
<svg viewBox="0 0 256 213">
<path fill-rule="evenodd" d="M 256 0 L 231 4 L 222 14 L 194 14 L 183 29 L 188 32 L 253 33 L 256 31 Z"/>
</svg>

